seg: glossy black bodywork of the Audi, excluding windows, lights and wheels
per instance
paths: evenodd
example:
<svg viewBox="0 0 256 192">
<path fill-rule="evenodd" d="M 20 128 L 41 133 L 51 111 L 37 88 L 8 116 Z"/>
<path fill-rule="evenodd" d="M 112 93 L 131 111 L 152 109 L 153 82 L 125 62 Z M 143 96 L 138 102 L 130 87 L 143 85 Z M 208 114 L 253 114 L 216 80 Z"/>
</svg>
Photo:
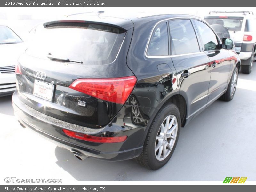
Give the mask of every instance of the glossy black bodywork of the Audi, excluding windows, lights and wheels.
<svg viewBox="0 0 256 192">
<path fill-rule="evenodd" d="M 116 59 L 104 65 L 65 65 L 65 62 L 24 54 L 19 59 L 22 75 L 16 75 L 17 82 L 22 84 L 17 83 L 12 98 L 15 115 L 21 124 L 84 156 L 111 161 L 139 156 L 148 128 L 164 103 L 173 101 L 182 109 L 182 126 L 185 126 L 225 93 L 231 74 L 239 65 L 240 60 L 233 51 L 204 50 L 194 23 L 194 19 L 199 20 L 197 17 L 88 18 L 76 15 L 70 21 L 105 23 L 126 30 Z M 188 20 L 193 26 L 198 52 L 172 55 L 169 22 L 180 19 Z M 162 23 L 168 29 L 167 55 L 148 56 L 151 36 Z M 34 71 L 45 72 L 44 82 L 54 85 L 52 101 L 33 95 Z M 137 83 L 124 104 L 101 100 L 69 88 L 76 79 L 127 76 L 136 76 Z M 78 100 L 85 101 L 86 107 L 78 106 Z M 136 106 L 133 105 L 135 101 Z M 98 137 L 128 137 L 119 143 L 95 143 L 71 138 L 62 129 Z"/>
</svg>

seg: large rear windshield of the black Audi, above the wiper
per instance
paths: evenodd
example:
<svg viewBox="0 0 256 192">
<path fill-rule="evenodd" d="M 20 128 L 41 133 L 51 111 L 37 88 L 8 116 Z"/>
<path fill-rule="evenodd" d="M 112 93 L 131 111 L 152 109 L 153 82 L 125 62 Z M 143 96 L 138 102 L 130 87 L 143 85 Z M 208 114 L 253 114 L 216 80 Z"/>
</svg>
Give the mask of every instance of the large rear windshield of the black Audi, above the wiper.
<svg viewBox="0 0 256 192">
<path fill-rule="evenodd" d="M 108 64 L 115 60 L 125 30 L 93 23 L 53 23 L 31 31 L 26 53 L 47 59 L 81 61 L 83 64 Z"/>
</svg>

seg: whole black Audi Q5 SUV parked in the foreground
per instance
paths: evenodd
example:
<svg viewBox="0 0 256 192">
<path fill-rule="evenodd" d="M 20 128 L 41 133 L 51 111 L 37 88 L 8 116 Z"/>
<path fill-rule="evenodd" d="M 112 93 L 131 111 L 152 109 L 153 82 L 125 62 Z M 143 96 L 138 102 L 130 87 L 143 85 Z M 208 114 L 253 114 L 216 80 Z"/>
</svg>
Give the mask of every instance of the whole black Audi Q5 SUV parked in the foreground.
<svg viewBox="0 0 256 192">
<path fill-rule="evenodd" d="M 180 128 L 236 91 L 232 40 L 195 16 L 82 13 L 31 36 L 16 66 L 15 115 L 80 160 L 159 169 Z"/>
</svg>

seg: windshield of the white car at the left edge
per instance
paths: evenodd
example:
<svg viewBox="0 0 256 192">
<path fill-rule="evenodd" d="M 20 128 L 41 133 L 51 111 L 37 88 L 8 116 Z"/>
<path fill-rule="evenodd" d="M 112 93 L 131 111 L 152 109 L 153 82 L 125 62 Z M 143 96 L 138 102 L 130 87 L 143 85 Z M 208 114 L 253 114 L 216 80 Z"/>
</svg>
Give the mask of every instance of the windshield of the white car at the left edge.
<svg viewBox="0 0 256 192">
<path fill-rule="evenodd" d="M 0 44 L 21 43 L 22 40 L 7 26 L 0 26 Z"/>
</svg>

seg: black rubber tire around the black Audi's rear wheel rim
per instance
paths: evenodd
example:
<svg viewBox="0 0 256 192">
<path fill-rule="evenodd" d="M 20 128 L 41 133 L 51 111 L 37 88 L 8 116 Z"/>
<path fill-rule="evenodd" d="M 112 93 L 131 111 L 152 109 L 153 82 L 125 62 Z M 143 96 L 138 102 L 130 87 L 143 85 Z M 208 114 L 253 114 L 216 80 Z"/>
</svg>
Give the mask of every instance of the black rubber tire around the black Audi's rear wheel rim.
<svg viewBox="0 0 256 192">
<path fill-rule="evenodd" d="M 164 122 L 165 118 L 169 115 L 174 115 L 177 119 L 177 136 L 172 147 L 170 154 L 162 161 L 157 160 L 155 155 L 155 144 L 156 144 L 156 136 L 159 133 L 159 128 L 161 124 Z M 171 158 L 173 151 L 178 142 L 179 131 L 180 130 L 180 112 L 176 105 L 173 103 L 165 104 L 156 114 L 154 120 L 152 121 L 146 140 L 144 142 L 143 151 L 139 157 L 136 158 L 137 162 L 151 170 L 157 170 L 163 167 Z"/>
</svg>

